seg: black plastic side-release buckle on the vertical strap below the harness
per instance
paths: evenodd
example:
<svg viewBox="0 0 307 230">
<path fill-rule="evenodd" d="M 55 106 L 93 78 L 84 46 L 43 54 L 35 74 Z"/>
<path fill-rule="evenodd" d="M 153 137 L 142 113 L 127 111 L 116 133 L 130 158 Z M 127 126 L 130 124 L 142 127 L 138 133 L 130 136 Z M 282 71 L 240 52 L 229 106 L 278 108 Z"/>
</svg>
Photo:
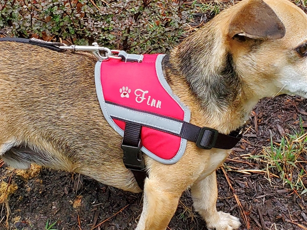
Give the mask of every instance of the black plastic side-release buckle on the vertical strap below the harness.
<svg viewBox="0 0 307 230">
<path fill-rule="evenodd" d="M 121 143 L 121 149 L 124 151 L 123 162 L 127 169 L 143 171 L 145 169 L 145 161 L 142 156 L 142 141 L 139 141 L 137 147 L 124 145 Z"/>
</svg>

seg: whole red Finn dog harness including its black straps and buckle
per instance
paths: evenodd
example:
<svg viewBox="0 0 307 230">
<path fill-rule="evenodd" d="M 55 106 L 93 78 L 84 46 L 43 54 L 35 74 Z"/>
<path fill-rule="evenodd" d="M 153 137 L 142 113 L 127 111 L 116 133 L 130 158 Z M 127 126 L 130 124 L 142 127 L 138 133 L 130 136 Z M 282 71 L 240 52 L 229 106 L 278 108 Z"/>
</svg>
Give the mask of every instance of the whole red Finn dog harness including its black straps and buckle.
<svg viewBox="0 0 307 230">
<path fill-rule="evenodd" d="M 173 95 L 163 76 L 164 56 L 144 55 L 141 63 L 110 58 L 95 67 L 103 115 L 123 136 L 124 163 L 130 169 L 145 167 L 139 163 L 140 150 L 162 164 L 174 164 L 187 140 L 203 149 L 231 149 L 240 140 L 237 132 L 225 135 L 189 123 L 190 110 Z"/>
</svg>

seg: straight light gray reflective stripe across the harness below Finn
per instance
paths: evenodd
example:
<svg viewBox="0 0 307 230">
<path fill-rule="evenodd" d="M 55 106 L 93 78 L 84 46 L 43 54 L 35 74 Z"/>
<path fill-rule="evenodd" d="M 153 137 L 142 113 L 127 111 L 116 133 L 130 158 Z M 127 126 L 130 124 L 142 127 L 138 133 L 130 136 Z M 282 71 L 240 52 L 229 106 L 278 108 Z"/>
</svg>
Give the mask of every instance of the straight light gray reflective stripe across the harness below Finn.
<svg viewBox="0 0 307 230">
<path fill-rule="evenodd" d="M 123 108 L 117 105 L 106 103 L 105 106 L 110 116 L 114 118 L 120 118 L 125 121 L 156 127 L 158 129 L 166 130 L 176 134 L 180 134 L 182 128 L 182 122 L 169 120 L 145 112 Z"/>
</svg>

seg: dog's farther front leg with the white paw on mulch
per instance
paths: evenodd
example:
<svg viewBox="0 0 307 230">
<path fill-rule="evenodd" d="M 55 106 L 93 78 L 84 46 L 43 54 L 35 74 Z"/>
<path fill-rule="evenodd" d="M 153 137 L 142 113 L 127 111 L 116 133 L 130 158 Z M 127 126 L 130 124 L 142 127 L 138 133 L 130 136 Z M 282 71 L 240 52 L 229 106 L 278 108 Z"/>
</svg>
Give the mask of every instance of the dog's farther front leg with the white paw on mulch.
<svg viewBox="0 0 307 230">
<path fill-rule="evenodd" d="M 195 181 L 191 187 L 191 193 L 194 208 L 205 219 L 209 229 L 238 229 L 240 222 L 236 217 L 216 211 L 217 185 L 215 171 L 206 178 Z"/>
</svg>

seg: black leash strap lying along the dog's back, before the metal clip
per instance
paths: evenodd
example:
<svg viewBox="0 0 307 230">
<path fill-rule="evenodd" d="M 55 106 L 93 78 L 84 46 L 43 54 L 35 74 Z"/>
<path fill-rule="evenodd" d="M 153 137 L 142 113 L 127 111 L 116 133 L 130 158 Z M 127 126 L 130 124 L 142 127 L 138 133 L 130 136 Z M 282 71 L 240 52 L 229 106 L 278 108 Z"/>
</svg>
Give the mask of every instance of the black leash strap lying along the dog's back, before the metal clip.
<svg viewBox="0 0 307 230">
<path fill-rule="evenodd" d="M 39 47 L 48 48 L 50 50 L 57 51 L 57 52 L 65 51 L 65 50 L 58 48 L 60 45 L 63 45 L 62 43 L 43 41 L 43 40 L 33 39 L 33 38 L 27 39 L 27 38 L 16 38 L 16 37 L 3 37 L 3 38 L 0 38 L 0 41 L 14 41 L 18 43 L 33 44 L 33 45 L 38 45 Z"/>
</svg>

